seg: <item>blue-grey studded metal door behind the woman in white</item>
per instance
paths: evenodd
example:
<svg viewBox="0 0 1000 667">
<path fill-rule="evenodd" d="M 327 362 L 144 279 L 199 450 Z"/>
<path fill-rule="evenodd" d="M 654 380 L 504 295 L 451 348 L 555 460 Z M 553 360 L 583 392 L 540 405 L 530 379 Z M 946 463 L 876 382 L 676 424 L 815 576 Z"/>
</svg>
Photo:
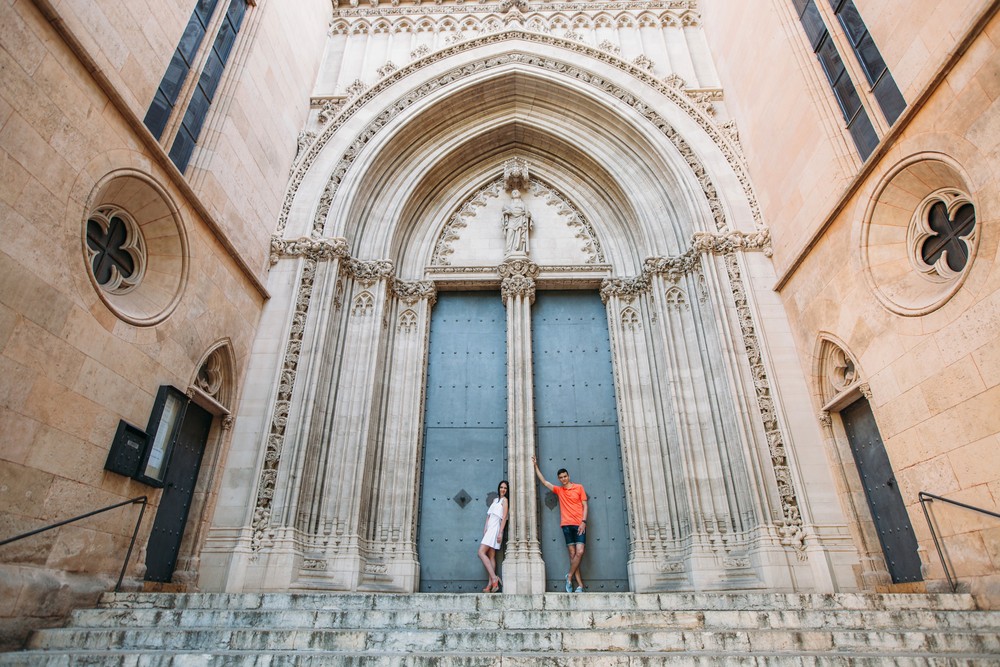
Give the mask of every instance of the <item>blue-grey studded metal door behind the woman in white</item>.
<svg viewBox="0 0 1000 667">
<path fill-rule="evenodd" d="M 497 292 L 442 292 L 431 316 L 420 590 L 481 591 L 486 510 L 507 471 L 507 327 Z"/>
</svg>

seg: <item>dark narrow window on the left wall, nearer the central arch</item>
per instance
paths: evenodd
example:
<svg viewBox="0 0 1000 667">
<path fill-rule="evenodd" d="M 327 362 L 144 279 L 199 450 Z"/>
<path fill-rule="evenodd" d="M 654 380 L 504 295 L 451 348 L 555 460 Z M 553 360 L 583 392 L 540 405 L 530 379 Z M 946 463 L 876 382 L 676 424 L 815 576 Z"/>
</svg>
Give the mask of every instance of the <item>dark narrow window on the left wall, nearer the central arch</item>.
<svg viewBox="0 0 1000 667">
<path fill-rule="evenodd" d="M 226 62 L 232 53 L 233 44 L 236 43 L 236 35 L 243 24 L 243 17 L 246 14 L 246 0 L 230 0 L 229 9 L 222 21 L 215 42 L 212 44 L 212 52 L 205 63 L 205 69 L 201 72 L 198 85 L 195 87 L 191 102 L 188 104 L 184 114 L 184 120 L 177 130 L 173 146 L 170 147 L 170 159 L 174 161 L 181 171 L 187 168 L 191 153 L 198 142 L 198 135 L 201 134 L 202 125 L 205 123 L 205 116 L 215 97 L 215 91 L 219 87 L 222 79 L 222 72 L 226 68 Z"/>
</svg>

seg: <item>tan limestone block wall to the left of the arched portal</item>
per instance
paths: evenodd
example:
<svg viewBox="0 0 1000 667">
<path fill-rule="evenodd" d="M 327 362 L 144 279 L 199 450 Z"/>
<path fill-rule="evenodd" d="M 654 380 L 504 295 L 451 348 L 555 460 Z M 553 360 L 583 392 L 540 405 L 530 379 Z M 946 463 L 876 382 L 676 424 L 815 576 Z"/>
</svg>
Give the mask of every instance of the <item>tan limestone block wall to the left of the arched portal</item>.
<svg viewBox="0 0 1000 667">
<path fill-rule="evenodd" d="M 215 142 L 225 156 L 200 163 L 211 178 L 196 188 L 142 125 L 191 3 L 38 0 L 0 9 L 0 536 L 147 495 L 141 547 L 160 491 L 104 470 L 111 440 L 121 419 L 145 427 L 158 386 L 193 391 L 218 352 L 221 405 L 178 580 L 197 571 L 228 444 L 223 416 L 235 408 L 267 297 L 258 275 L 265 221 L 273 225 L 283 187 L 271 176 L 287 170 L 306 113 L 305 104 L 263 107 L 260 91 L 306 98 L 329 11 L 318 1 L 294 12 L 272 4 L 257 4 L 244 62 L 236 58 L 234 79 L 216 98 L 231 100 L 220 104 L 233 119 L 220 131 L 242 138 Z M 123 294 L 90 274 L 87 220 L 101 205 L 125 209 L 145 243 L 143 277 Z M 3 547 L 0 644 L 15 645 L 114 586 L 137 512 Z M 140 548 L 126 585 L 141 580 L 143 560 Z"/>
</svg>

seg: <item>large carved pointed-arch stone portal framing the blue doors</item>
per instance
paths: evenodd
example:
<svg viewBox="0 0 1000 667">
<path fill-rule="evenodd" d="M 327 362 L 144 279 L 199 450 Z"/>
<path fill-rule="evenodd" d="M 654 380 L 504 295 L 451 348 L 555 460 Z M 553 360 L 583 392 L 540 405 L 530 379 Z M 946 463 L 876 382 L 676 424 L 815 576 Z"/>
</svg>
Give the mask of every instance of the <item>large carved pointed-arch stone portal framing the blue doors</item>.
<svg viewBox="0 0 1000 667">
<path fill-rule="evenodd" d="M 505 590 L 542 592 L 565 552 L 537 453 L 603 512 L 599 588 L 840 586 L 846 531 L 803 495 L 830 481 L 795 465 L 751 283 L 767 234 L 729 149 L 676 89 L 528 32 L 347 102 L 273 244 L 285 296 L 252 364 L 273 387 L 231 469 L 257 483 L 213 528 L 216 580 L 466 581 L 507 478 Z"/>
</svg>

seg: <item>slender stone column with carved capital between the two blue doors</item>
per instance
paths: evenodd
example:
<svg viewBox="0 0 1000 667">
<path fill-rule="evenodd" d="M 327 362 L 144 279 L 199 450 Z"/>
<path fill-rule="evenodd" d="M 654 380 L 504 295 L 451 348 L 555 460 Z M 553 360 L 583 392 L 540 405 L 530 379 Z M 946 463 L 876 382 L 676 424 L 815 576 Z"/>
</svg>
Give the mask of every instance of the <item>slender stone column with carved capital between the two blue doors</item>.
<svg viewBox="0 0 1000 667">
<path fill-rule="evenodd" d="M 507 308 L 507 452 L 511 515 L 504 552 L 504 592 L 545 592 L 545 564 L 538 541 L 538 494 L 535 490 L 534 378 L 531 372 L 531 304 L 538 266 L 512 259 L 497 270 Z"/>
</svg>

